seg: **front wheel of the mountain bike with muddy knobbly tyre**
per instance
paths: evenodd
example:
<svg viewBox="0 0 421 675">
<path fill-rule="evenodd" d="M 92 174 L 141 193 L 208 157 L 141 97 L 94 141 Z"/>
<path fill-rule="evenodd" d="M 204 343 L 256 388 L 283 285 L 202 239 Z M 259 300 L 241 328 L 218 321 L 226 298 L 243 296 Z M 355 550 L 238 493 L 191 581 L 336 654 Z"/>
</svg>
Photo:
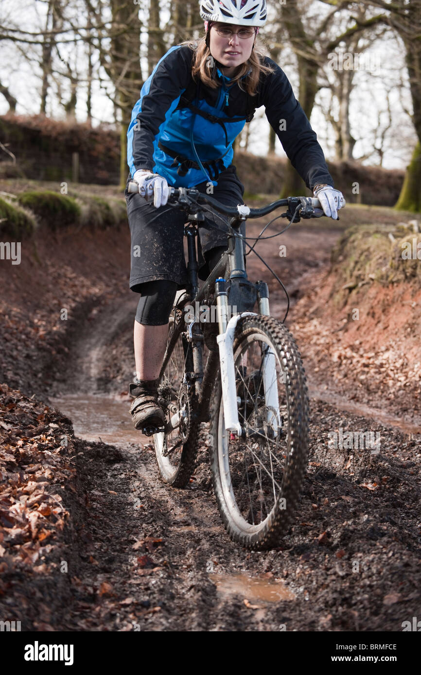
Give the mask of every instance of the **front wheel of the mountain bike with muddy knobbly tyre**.
<svg viewBox="0 0 421 675">
<path fill-rule="evenodd" d="M 297 509 L 308 455 L 309 402 L 295 340 L 272 317 L 237 324 L 234 368 L 243 435 L 226 431 L 221 378 L 211 407 L 211 466 L 218 509 L 233 541 L 276 546 Z"/>
</svg>

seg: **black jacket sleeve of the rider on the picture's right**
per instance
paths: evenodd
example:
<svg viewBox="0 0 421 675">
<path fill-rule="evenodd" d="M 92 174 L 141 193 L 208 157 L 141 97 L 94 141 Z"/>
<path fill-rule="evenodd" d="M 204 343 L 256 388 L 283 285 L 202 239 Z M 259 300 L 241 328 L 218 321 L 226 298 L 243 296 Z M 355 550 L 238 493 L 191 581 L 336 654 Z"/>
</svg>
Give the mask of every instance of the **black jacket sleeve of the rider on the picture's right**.
<svg viewBox="0 0 421 675">
<path fill-rule="evenodd" d="M 289 79 L 275 61 L 266 57 L 265 63 L 272 65 L 274 72 L 264 78 L 261 103 L 282 148 L 307 188 L 312 190 L 319 183 L 333 186 L 317 135 L 295 98 Z"/>
</svg>

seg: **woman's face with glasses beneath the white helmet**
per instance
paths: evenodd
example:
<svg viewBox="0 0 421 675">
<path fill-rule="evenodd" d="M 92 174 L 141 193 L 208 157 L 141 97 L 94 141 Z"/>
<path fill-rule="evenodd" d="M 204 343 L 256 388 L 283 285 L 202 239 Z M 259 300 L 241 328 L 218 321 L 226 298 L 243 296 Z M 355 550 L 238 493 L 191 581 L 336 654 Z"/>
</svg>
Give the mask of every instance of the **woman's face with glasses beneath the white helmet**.
<svg viewBox="0 0 421 675">
<path fill-rule="evenodd" d="M 216 32 L 216 28 L 229 28 L 234 31 L 230 39 L 221 37 Z M 245 28 L 245 26 L 237 26 L 234 24 L 216 23 L 210 27 L 209 49 L 217 61 L 222 63 L 224 75 L 228 78 L 232 77 L 239 65 L 245 63 L 249 59 L 253 43 L 255 41 L 255 32 L 250 38 L 239 38 L 237 31 Z"/>
</svg>

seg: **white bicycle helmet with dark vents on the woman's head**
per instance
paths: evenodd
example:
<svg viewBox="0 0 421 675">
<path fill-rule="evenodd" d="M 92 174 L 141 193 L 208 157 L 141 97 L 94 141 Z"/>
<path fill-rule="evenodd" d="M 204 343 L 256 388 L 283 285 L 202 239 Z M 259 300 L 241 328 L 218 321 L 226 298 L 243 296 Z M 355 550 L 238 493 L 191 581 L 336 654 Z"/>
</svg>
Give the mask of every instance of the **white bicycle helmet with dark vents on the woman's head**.
<svg viewBox="0 0 421 675">
<path fill-rule="evenodd" d="M 236 26 L 264 26 L 268 20 L 266 0 L 201 0 L 200 16 Z"/>
</svg>

